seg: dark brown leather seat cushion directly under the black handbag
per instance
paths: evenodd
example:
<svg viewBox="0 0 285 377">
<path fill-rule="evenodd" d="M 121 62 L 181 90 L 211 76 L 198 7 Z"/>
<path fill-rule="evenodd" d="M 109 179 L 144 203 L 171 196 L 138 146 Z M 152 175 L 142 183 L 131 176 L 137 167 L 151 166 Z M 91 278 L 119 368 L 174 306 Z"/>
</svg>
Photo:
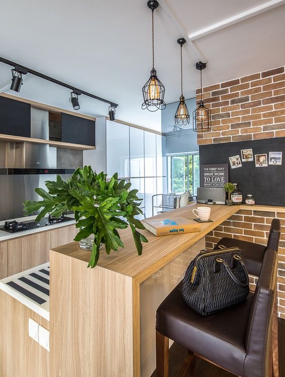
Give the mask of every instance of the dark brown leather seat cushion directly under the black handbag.
<svg viewBox="0 0 285 377">
<path fill-rule="evenodd" d="M 184 302 L 179 290 L 181 284 L 157 309 L 157 331 L 232 373 L 243 375 L 253 294 L 239 304 L 203 317 Z"/>
</svg>

